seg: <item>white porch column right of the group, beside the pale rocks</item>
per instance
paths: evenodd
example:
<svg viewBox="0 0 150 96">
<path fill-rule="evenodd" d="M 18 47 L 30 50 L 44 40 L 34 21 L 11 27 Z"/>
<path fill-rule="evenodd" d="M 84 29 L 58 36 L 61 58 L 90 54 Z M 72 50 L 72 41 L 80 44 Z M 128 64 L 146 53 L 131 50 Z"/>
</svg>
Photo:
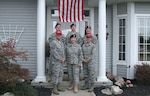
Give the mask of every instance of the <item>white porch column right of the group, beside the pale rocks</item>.
<svg viewBox="0 0 150 96">
<path fill-rule="evenodd" d="M 106 77 L 106 0 L 99 0 L 99 76 L 98 82 L 109 81 Z"/>
</svg>

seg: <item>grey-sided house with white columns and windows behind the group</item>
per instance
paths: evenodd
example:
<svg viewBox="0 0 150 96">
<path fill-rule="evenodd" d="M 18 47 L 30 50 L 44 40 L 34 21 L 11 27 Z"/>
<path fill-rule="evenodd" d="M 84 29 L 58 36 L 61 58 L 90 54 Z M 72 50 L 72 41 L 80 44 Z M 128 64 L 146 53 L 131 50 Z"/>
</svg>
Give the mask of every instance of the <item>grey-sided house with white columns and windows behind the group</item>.
<svg viewBox="0 0 150 96">
<path fill-rule="evenodd" d="M 85 20 L 76 22 L 77 31 L 83 36 L 84 26 L 91 25 L 98 34 L 97 81 L 108 80 L 106 71 L 133 79 L 134 66 L 150 60 L 150 0 L 84 0 L 84 5 Z M 17 49 L 27 50 L 29 56 L 18 63 L 29 69 L 35 82 L 46 81 L 45 44 L 57 16 L 57 0 L 0 0 L 0 38 L 4 30 L 8 35 L 24 27 Z M 64 34 L 70 24 L 62 24 Z"/>
</svg>

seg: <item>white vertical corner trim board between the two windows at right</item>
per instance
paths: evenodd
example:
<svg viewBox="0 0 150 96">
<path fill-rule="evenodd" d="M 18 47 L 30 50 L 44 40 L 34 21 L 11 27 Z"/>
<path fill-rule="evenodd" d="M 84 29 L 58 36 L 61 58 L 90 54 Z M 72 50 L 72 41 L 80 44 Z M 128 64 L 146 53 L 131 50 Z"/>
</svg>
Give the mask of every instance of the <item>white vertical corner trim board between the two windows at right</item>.
<svg viewBox="0 0 150 96">
<path fill-rule="evenodd" d="M 127 3 L 127 78 L 134 79 L 134 66 L 138 59 L 138 36 L 135 31 L 134 2 Z"/>
</svg>

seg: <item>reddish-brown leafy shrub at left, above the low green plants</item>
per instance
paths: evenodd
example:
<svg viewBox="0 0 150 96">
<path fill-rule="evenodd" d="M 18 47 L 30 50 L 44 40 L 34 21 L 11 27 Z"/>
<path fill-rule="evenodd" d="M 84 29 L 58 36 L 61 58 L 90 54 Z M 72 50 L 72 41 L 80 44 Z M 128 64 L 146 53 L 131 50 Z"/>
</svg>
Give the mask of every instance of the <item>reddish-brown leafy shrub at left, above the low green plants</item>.
<svg viewBox="0 0 150 96">
<path fill-rule="evenodd" d="M 13 39 L 0 43 L 0 84 L 15 86 L 21 79 L 29 81 L 29 71 L 10 62 L 17 61 L 17 57 L 27 60 L 26 51 L 16 50 Z"/>
</svg>

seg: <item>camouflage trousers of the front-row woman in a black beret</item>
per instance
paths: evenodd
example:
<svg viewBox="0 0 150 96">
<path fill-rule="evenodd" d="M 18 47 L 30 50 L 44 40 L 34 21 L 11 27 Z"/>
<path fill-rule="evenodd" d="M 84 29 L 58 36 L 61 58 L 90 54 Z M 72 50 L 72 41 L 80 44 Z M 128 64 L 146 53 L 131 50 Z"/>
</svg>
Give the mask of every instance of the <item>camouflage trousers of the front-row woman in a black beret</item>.
<svg viewBox="0 0 150 96">
<path fill-rule="evenodd" d="M 80 67 L 77 64 L 68 64 L 68 74 L 71 84 L 78 84 L 79 83 L 79 70 Z"/>
</svg>

